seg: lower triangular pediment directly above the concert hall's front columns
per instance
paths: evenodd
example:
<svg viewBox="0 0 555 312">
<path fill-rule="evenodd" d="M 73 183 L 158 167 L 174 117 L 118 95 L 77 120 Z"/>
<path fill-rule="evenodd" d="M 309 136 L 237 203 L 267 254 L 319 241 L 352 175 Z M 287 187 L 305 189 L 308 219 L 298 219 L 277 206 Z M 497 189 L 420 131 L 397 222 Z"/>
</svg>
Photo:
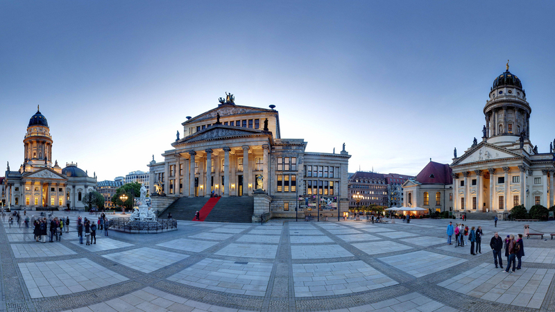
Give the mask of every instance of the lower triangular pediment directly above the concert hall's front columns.
<svg viewBox="0 0 555 312">
<path fill-rule="evenodd" d="M 180 146 L 182 144 L 192 143 L 196 141 L 210 141 L 214 139 L 232 139 L 236 137 L 252 137 L 252 136 L 269 136 L 271 132 L 265 132 L 250 128 L 237 128 L 230 125 L 213 125 L 210 128 L 196 132 L 194 135 L 184 137 L 179 141 L 171 144 L 172 146 Z"/>
</svg>

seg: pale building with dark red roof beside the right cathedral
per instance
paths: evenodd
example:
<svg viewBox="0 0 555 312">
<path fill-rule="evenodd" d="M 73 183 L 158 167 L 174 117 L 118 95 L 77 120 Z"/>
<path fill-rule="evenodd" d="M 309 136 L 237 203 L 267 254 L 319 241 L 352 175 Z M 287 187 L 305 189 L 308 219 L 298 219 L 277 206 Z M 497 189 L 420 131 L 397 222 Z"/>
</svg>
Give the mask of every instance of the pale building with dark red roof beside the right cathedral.
<svg viewBox="0 0 555 312">
<path fill-rule="evenodd" d="M 453 178 L 449 164 L 430 161 L 413 180 L 404 182 L 403 207 L 452 211 Z"/>
</svg>

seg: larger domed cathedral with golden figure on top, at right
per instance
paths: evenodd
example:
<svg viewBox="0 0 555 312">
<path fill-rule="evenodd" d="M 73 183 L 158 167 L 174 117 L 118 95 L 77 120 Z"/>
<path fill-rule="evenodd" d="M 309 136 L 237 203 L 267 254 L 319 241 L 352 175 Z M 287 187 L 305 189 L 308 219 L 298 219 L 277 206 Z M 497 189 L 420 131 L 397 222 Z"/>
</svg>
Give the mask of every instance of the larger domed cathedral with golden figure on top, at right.
<svg viewBox="0 0 555 312">
<path fill-rule="evenodd" d="M 520 78 L 509 71 L 495 77 L 484 116 L 482 138 L 451 164 L 454 211 L 509 213 L 517 206 L 554 205 L 555 162 L 530 140 L 531 107 Z M 546 144 L 547 145 L 547 144 Z M 545 146 L 547 150 L 547 146 Z"/>
</svg>

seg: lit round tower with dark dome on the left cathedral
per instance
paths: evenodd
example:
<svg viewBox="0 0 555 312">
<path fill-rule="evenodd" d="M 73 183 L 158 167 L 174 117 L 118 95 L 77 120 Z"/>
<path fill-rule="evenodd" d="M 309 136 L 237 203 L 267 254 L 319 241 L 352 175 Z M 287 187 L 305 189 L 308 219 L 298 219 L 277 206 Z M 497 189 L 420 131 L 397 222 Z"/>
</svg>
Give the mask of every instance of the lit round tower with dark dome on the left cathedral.
<svg viewBox="0 0 555 312">
<path fill-rule="evenodd" d="M 44 167 L 52 167 L 52 144 L 50 128 L 46 117 L 37 112 L 27 126 L 27 133 L 23 139 L 25 148 L 24 168 L 26 172 L 36 171 Z"/>
</svg>

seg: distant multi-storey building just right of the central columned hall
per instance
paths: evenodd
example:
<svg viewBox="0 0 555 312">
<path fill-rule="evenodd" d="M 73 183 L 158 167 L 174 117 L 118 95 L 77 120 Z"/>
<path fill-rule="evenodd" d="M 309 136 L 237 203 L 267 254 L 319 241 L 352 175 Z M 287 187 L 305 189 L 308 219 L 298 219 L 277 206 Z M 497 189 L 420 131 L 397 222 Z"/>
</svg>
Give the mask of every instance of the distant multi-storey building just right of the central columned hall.
<svg viewBox="0 0 555 312">
<path fill-rule="evenodd" d="M 369 205 L 387 205 L 387 182 L 383 173 L 357 171 L 349 179 L 349 208 L 363 207 Z M 359 203 L 353 197 L 362 196 Z"/>
</svg>

